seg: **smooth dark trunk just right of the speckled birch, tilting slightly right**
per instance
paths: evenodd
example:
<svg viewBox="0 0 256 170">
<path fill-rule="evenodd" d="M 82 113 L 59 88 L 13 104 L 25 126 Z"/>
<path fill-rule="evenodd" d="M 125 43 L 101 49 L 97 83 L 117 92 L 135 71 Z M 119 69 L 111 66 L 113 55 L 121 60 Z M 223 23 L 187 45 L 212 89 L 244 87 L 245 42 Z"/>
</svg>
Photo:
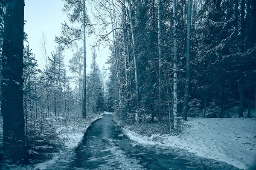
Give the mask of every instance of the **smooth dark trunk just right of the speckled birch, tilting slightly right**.
<svg viewBox="0 0 256 170">
<path fill-rule="evenodd" d="M 188 0 L 187 11 L 187 34 L 186 34 L 186 82 L 185 82 L 185 94 L 184 94 L 184 108 L 182 119 L 187 120 L 189 111 L 189 86 L 190 86 L 190 54 L 191 54 L 191 8 L 192 2 Z"/>
</svg>

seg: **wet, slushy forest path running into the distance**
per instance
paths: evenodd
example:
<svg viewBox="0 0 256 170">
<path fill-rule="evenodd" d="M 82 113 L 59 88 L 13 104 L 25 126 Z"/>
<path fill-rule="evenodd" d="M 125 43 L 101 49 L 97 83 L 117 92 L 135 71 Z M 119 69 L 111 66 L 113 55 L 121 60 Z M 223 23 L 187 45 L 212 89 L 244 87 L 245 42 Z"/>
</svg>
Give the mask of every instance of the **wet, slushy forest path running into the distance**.
<svg viewBox="0 0 256 170">
<path fill-rule="evenodd" d="M 48 170 L 235 170 L 223 162 L 191 156 L 177 148 L 143 147 L 122 134 L 112 115 L 94 122 L 73 160 L 60 159 Z M 189 156 L 190 155 L 190 156 Z M 195 159 L 196 158 L 196 159 Z M 191 161 L 191 159 L 193 159 Z M 216 163 L 217 162 L 217 163 Z"/>
</svg>

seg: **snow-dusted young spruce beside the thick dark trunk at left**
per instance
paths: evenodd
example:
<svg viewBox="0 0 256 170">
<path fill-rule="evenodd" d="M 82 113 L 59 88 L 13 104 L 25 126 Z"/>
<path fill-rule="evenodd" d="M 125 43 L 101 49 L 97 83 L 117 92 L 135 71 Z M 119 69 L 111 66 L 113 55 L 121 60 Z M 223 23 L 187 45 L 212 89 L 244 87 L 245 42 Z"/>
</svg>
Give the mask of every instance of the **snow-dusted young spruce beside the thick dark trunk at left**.
<svg viewBox="0 0 256 170">
<path fill-rule="evenodd" d="M 28 119 L 25 127 L 28 159 L 51 159 L 63 147 L 58 133 L 61 120 L 42 109 L 38 112 L 40 116 Z"/>
</svg>

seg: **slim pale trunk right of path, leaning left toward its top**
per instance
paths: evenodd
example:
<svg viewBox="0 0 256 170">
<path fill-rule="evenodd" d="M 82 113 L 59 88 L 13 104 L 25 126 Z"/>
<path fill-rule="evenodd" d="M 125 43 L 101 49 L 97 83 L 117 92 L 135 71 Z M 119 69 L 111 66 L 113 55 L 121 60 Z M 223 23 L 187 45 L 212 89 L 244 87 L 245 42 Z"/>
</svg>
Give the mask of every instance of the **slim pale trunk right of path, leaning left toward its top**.
<svg viewBox="0 0 256 170">
<path fill-rule="evenodd" d="M 128 0 L 129 5 L 129 14 L 130 14 L 130 25 L 131 25 L 131 37 L 132 37 L 132 44 L 134 48 L 134 70 L 135 70 L 135 90 L 136 90 L 136 102 L 137 102 L 137 112 L 140 109 L 140 93 L 139 93 L 139 80 L 138 80 L 138 68 L 137 68 L 137 57 L 136 57 L 136 50 L 135 50 L 135 38 L 134 38 L 134 28 L 133 22 L 131 17 L 131 0 Z M 137 118 L 139 117 L 138 113 L 136 113 Z"/>
</svg>

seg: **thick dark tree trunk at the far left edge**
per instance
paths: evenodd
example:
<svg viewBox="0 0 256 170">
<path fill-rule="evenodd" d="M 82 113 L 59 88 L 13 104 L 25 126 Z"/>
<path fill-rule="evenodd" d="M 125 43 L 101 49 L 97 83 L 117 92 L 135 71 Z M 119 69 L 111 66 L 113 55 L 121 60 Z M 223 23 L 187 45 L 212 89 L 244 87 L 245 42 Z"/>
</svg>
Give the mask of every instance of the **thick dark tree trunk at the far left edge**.
<svg viewBox="0 0 256 170">
<path fill-rule="evenodd" d="M 15 163 L 25 158 L 23 113 L 24 0 L 6 0 L 2 53 L 3 151 Z"/>
</svg>

